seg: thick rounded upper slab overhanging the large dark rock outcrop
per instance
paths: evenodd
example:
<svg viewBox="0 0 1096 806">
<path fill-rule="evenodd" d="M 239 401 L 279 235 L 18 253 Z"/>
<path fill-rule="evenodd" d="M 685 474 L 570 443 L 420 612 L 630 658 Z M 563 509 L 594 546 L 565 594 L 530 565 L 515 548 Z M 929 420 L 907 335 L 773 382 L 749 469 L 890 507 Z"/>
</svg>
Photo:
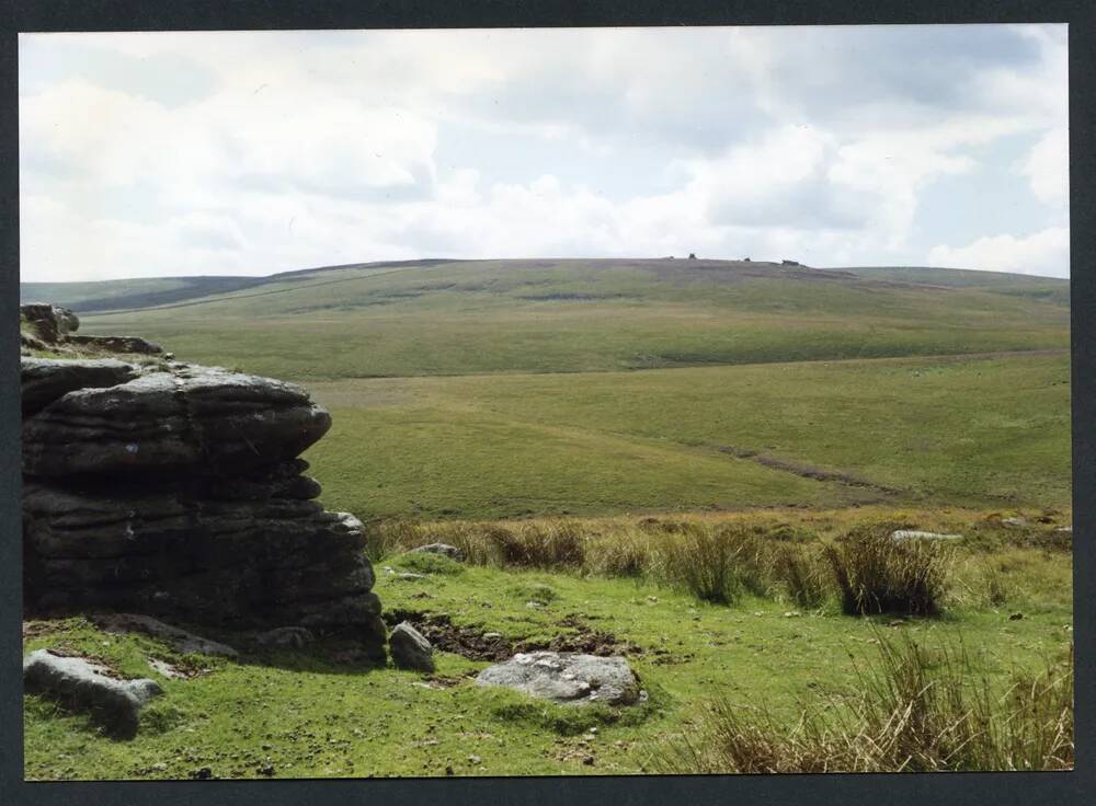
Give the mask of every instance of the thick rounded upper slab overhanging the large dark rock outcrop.
<svg viewBox="0 0 1096 806">
<path fill-rule="evenodd" d="M 331 415 L 299 387 L 174 365 L 117 385 L 73 390 L 44 407 L 23 425 L 23 471 L 231 480 L 289 462 L 330 427 Z"/>
</svg>

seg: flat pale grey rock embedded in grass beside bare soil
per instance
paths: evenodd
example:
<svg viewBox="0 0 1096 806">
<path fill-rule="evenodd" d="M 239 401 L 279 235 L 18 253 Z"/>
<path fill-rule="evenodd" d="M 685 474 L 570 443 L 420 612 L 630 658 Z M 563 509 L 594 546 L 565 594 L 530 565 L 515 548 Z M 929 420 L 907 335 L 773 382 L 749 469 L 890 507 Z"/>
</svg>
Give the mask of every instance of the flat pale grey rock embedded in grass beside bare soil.
<svg viewBox="0 0 1096 806">
<path fill-rule="evenodd" d="M 568 652 L 518 653 L 510 660 L 483 669 L 476 682 L 568 704 L 631 705 L 646 696 L 623 657 Z"/>
</svg>

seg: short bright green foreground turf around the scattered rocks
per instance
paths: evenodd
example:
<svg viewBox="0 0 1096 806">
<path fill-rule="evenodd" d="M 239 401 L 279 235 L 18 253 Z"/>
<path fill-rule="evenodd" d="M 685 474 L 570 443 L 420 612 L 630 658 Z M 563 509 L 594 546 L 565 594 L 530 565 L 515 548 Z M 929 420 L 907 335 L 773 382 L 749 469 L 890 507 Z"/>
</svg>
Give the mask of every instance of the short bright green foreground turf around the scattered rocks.
<svg viewBox="0 0 1096 806">
<path fill-rule="evenodd" d="M 964 550 L 964 562 L 945 615 L 893 622 L 841 615 L 834 600 L 801 614 L 789 601 L 749 594 L 716 606 L 650 583 L 576 573 L 468 565 L 459 574 L 402 580 L 385 566 L 410 566 L 390 556 L 377 564 L 386 610 L 446 613 L 454 624 L 515 642 L 571 634 L 578 619 L 643 649 L 629 659 L 648 703 L 592 711 L 545 705 L 475 686 L 468 676 L 488 661 L 449 653 L 436 655 L 433 683 L 391 667 L 342 666 L 317 650 L 239 663 L 192 658 L 192 668 L 206 671 L 160 678 L 167 693 L 146 709 L 132 741 L 107 738 L 85 717 L 27 696 L 26 775 L 170 779 L 208 767 L 216 776 L 261 778 L 267 762 L 286 778 L 443 775 L 446 765 L 456 774 L 651 771 L 661 742 L 693 734 L 710 698 L 765 702 L 777 718 L 791 721 L 803 696 L 855 694 L 857 669 L 874 657 L 879 630 L 928 648 L 961 637 L 978 672 L 1002 686 L 1014 672 L 1039 670 L 1069 644 L 1068 553 L 996 544 Z M 1015 599 L 994 607 L 968 583 L 1001 563 Z M 1038 607 L 1029 609 L 1028 597 Z M 1024 618 L 1011 619 L 1017 610 Z M 127 676 L 153 678 L 146 658 L 180 660 L 157 641 L 110 636 L 81 619 L 44 626 L 24 640 L 25 650 L 80 649 Z M 469 760 L 473 755 L 479 763 Z M 583 763 L 586 756 L 593 765 Z"/>
</svg>

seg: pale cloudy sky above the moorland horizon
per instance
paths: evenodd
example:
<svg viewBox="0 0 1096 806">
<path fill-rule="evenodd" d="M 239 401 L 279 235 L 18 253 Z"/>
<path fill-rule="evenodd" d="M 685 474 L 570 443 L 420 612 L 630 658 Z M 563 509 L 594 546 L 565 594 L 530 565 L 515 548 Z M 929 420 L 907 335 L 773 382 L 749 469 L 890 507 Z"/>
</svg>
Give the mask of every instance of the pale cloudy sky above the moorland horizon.
<svg viewBox="0 0 1096 806">
<path fill-rule="evenodd" d="M 418 257 L 1068 277 L 1065 25 L 20 34 L 21 278 Z"/>
</svg>

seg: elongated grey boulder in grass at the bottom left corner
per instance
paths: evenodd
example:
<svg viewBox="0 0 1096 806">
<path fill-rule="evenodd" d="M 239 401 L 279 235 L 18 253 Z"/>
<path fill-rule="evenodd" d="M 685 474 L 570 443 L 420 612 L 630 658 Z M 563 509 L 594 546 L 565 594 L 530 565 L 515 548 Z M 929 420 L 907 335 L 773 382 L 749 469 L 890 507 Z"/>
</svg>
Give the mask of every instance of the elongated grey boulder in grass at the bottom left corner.
<svg viewBox="0 0 1096 806">
<path fill-rule="evenodd" d="M 105 671 L 84 658 L 37 649 L 23 659 L 23 684 L 30 692 L 90 711 L 117 736 L 133 737 L 137 733 L 141 707 L 162 694 L 163 689 L 148 678 L 116 680 Z"/>
</svg>

